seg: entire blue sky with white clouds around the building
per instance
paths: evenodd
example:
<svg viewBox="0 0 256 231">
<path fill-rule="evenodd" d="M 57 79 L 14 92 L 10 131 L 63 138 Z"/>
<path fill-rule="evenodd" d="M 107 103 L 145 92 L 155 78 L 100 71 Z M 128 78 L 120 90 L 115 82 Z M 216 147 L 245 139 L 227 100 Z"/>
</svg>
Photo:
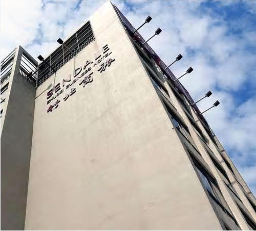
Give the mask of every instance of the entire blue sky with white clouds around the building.
<svg viewBox="0 0 256 231">
<path fill-rule="evenodd" d="M 0 58 L 17 45 L 33 57 L 47 56 L 86 22 L 105 0 L 1 0 Z M 147 1 L 113 0 L 176 76 L 194 71 L 181 83 L 196 100 L 208 90 L 201 111 L 215 100 L 221 104 L 205 113 L 212 130 L 256 195 L 256 0 Z"/>
</svg>

